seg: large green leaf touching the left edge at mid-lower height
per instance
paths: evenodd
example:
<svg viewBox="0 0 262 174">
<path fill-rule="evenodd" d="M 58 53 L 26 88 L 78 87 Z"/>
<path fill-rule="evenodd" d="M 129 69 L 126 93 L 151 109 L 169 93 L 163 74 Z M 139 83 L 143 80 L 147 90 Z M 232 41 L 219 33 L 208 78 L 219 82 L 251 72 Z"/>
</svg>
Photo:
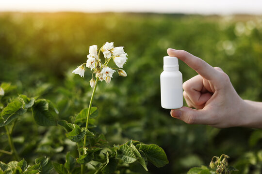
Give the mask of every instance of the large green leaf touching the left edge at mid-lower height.
<svg viewBox="0 0 262 174">
<path fill-rule="evenodd" d="M 8 125 L 18 116 L 23 115 L 27 109 L 23 109 L 24 102 L 22 99 L 17 98 L 13 102 L 10 102 L 1 113 L 0 127 Z"/>
</svg>

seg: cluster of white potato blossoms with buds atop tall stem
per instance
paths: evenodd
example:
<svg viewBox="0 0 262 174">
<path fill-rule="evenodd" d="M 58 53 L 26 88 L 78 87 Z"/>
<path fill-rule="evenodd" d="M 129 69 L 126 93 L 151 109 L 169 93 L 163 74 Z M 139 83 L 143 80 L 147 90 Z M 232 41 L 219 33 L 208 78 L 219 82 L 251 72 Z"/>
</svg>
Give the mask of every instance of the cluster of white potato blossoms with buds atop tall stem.
<svg viewBox="0 0 262 174">
<path fill-rule="evenodd" d="M 103 53 L 105 62 L 102 63 L 99 58 L 100 52 Z M 113 78 L 113 73 L 117 70 L 120 76 L 126 77 L 127 73 L 119 68 L 123 68 L 123 65 L 127 61 L 127 53 L 124 52 L 123 46 L 114 47 L 114 43 L 105 43 L 98 51 L 97 45 L 92 45 L 89 47 L 89 54 L 87 55 L 86 63 L 83 63 L 72 73 L 79 74 L 81 77 L 84 77 L 85 67 L 90 68 L 92 73 L 92 79 L 90 80 L 90 86 L 95 87 L 98 80 L 101 82 L 104 80 L 106 83 L 110 83 L 111 78 Z M 110 60 L 114 60 L 115 65 L 118 68 L 110 68 L 108 63 Z M 114 70 L 115 69 L 115 70 Z M 96 80 L 94 78 L 94 73 Z"/>
</svg>

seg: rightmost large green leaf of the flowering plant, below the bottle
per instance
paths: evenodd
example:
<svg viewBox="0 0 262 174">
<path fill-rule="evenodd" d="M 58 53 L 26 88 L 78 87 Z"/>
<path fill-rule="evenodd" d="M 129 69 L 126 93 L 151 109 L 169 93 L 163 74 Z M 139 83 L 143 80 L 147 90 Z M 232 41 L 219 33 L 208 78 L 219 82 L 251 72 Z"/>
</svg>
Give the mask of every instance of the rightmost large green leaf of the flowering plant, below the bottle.
<svg viewBox="0 0 262 174">
<path fill-rule="evenodd" d="M 164 165 L 168 164 L 168 160 L 163 148 L 159 147 L 158 145 L 138 144 L 136 145 L 136 148 L 142 150 L 147 155 L 147 159 L 156 167 L 163 167 Z"/>
</svg>

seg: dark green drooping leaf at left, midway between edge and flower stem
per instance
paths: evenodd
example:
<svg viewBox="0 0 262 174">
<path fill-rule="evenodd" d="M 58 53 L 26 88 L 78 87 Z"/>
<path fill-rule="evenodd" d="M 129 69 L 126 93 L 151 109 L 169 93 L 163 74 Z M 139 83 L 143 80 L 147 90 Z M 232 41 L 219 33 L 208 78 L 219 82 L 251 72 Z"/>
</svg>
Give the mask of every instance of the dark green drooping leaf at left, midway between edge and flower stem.
<svg viewBox="0 0 262 174">
<path fill-rule="evenodd" d="M 33 109 L 33 118 L 38 125 L 40 126 L 55 125 L 54 117 L 49 111 L 49 102 L 47 102 L 45 99 L 40 99 L 34 102 L 32 109 Z"/>
</svg>

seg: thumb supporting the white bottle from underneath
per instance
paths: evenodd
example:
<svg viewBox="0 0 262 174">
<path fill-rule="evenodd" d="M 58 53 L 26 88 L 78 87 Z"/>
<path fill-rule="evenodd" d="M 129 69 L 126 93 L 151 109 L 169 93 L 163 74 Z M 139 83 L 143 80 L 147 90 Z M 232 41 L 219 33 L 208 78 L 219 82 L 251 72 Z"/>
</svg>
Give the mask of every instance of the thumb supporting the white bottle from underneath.
<svg viewBox="0 0 262 174">
<path fill-rule="evenodd" d="M 210 118 L 202 109 L 196 110 L 189 107 L 181 107 L 180 109 L 172 109 L 170 112 L 172 117 L 178 118 L 187 124 L 209 124 Z"/>
</svg>

